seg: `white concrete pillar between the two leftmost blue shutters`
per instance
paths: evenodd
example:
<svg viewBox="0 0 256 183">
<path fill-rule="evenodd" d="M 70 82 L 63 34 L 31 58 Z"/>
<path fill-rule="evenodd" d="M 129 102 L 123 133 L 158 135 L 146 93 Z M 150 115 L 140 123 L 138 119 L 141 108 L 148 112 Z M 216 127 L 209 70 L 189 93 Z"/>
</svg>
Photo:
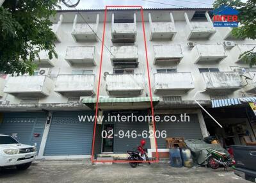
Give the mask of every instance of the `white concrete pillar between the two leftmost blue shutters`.
<svg viewBox="0 0 256 183">
<path fill-rule="evenodd" d="M 48 116 L 47 116 L 47 121 L 46 121 L 45 127 L 44 127 L 44 132 L 43 132 L 43 136 L 42 136 L 40 149 L 38 151 L 38 155 L 37 155 L 36 159 L 42 159 L 42 157 L 44 156 L 44 149 L 45 149 L 47 137 L 48 137 L 48 134 L 49 134 L 51 122 L 52 122 L 52 113 L 49 112 Z"/>
</svg>

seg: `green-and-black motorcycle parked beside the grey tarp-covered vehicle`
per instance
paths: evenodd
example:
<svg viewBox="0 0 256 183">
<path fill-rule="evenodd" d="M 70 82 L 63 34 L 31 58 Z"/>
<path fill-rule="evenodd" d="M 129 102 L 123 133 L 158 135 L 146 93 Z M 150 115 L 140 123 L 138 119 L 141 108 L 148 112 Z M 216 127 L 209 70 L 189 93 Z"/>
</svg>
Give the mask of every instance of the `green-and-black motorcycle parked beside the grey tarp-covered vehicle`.
<svg viewBox="0 0 256 183">
<path fill-rule="evenodd" d="M 224 170 L 227 170 L 227 166 L 231 167 L 234 165 L 234 160 L 230 158 L 225 152 L 218 152 L 217 150 L 207 149 L 207 166 L 212 169 L 217 169 L 222 165 Z"/>
</svg>

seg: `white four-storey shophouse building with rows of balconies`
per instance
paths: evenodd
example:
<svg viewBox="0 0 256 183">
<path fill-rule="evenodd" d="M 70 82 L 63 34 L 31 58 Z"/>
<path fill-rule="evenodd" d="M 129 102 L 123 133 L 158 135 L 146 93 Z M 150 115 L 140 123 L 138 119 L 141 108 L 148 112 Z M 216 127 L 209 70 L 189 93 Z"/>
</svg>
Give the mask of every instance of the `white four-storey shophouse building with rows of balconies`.
<svg viewBox="0 0 256 183">
<path fill-rule="evenodd" d="M 211 100 L 253 97 L 256 68 L 241 63 L 239 55 L 256 42 L 233 38 L 230 28 L 214 28 L 209 11 L 143 10 L 149 75 L 139 9 L 108 10 L 103 47 L 104 10 L 58 11 L 52 18 L 58 58 L 49 60 L 46 52 L 40 52 L 35 76 L 0 78 L 0 133 L 13 134 L 22 143 L 37 143 L 39 158 L 90 157 L 94 120 L 79 122 L 78 116 L 95 115 L 100 80 L 99 116 L 151 115 L 151 89 L 155 115 L 189 116 L 189 122 L 156 122 L 156 129 L 166 131 L 168 137 L 202 139 L 211 134 L 243 143 L 241 136 L 249 134 L 255 139 L 246 104 L 215 109 Z M 244 80 L 239 70 L 246 70 L 250 79 Z M 225 128 L 202 113 L 195 99 Z M 233 129 L 231 134 L 227 127 Z M 153 125 L 147 120 L 98 120 L 95 154 L 125 154 L 142 138 L 102 139 L 102 131 L 109 129 L 115 134 L 141 134 Z M 154 155 L 154 138 L 147 138 L 147 147 Z M 164 138 L 157 139 L 157 147 L 162 155 L 168 152 Z"/>
</svg>

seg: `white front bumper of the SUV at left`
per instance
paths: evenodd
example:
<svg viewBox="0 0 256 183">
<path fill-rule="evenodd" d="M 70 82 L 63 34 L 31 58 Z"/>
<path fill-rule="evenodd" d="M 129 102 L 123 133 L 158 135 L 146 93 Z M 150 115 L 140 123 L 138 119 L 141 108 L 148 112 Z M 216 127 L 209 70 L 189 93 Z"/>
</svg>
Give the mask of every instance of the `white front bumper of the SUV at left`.
<svg viewBox="0 0 256 183">
<path fill-rule="evenodd" d="M 30 157 L 28 157 L 30 156 Z M 36 152 L 24 153 L 24 154 L 4 154 L 0 155 L 0 166 L 15 166 L 18 164 L 29 163 L 36 158 Z"/>
</svg>

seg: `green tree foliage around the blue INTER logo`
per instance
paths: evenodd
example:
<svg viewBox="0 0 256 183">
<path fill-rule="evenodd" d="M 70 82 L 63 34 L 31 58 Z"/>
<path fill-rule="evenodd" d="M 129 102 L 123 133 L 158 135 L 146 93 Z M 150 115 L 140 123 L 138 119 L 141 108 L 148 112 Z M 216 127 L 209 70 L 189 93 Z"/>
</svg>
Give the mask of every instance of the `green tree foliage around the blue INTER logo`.
<svg viewBox="0 0 256 183">
<path fill-rule="evenodd" d="M 256 39 L 256 0 L 248 0 L 245 3 L 240 0 L 216 0 L 214 8 L 221 5 L 231 6 L 239 11 L 238 19 L 241 27 L 232 29 L 232 35 L 236 38 Z M 242 61 L 248 63 L 250 67 L 256 65 L 256 47 L 246 51 L 239 56 Z"/>
</svg>

